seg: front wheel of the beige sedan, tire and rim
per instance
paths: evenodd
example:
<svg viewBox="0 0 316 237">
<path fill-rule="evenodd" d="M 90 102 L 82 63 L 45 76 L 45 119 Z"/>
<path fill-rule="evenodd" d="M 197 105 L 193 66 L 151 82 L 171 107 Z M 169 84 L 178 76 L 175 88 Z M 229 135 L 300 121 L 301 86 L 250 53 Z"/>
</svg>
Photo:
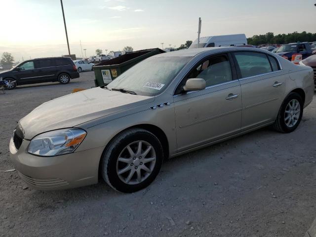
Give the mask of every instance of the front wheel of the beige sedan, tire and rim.
<svg viewBox="0 0 316 237">
<path fill-rule="evenodd" d="M 146 188 L 159 173 L 163 151 L 151 132 L 133 128 L 119 134 L 101 160 L 103 179 L 115 190 L 132 193 Z"/>
</svg>

